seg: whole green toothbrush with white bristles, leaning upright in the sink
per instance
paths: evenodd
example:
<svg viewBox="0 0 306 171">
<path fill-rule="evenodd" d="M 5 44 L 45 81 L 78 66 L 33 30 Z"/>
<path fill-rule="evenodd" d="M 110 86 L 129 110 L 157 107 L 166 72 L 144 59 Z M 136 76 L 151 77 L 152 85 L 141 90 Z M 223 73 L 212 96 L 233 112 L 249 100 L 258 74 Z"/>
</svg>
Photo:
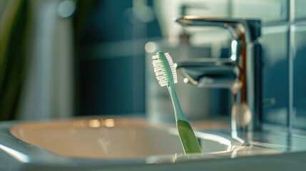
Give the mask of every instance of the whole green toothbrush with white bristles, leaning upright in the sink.
<svg viewBox="0 0 306 171">
<path fill-rule="evenodd" d="M 175 66 L 169 53 L 159 51 L 156 56 L 153 56 L 153 68 L 155 76 L 160 86 L 167 86 L 170 97 L 173 103 L 176 126 L 178 128 L 178 135 L 180 135 L 180 142 L 182 142 L 185 155 L 191 153 L 200 153 L 200 145 L 193 128 L 188 123 L 180 103 L 178 96 L 175 93 L 174 83 L 178 83 L 178 76 L 176 75 Z"/>
</svg>

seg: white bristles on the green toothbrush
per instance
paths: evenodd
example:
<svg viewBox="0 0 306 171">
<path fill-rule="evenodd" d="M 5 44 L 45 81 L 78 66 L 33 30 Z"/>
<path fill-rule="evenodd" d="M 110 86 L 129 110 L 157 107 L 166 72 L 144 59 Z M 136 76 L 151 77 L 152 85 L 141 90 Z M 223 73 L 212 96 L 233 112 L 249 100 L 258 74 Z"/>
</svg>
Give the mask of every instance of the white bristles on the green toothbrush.
<svg viewBox="0 0 306 171">
<path fill-rule="evenodd" d="M 175 70 L 175 66 L 173 64 L 172 58 L 169 55 L 169 53 L 165 53 L 165 57 L 168 60 L 168 63 L 170 64 L 170 68 L 171 68 L 171 72 L 173 75 L 173 81 L 174 83 L 178 83 L 178 76 L 176 74 L 176 70 Z M 169 78 L 168 78 L 168 74 L 165 71 L 166 68 L 164 66 L 163 63 L 163 59 L 161 59 L 159 56 L 152 56 L 153 59 L 153 68 L 154 68 L 154 72 L 155 72 L 155 76 L 158 80 L 158 83 L 160 84 L 160 86 L 168 86 L 169 83 Z"/>
</svg>

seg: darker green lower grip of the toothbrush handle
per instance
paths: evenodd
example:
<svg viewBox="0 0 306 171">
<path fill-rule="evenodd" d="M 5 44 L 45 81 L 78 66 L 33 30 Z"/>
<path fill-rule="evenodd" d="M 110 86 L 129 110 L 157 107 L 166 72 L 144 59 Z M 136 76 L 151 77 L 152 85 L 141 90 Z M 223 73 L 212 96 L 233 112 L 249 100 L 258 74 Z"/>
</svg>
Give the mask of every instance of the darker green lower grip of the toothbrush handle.
<svg viewBox="0 0 306 171">
<path fill-rule="evenodd" d="M 184 120 L 177 120 L 176 124 L 178 125 L 178 134 L 180 135 L 180 141 L 182 142 L 185 154 L 201 153 L 198 139 L 195 137 L 190 124 Z"/>
</svg>

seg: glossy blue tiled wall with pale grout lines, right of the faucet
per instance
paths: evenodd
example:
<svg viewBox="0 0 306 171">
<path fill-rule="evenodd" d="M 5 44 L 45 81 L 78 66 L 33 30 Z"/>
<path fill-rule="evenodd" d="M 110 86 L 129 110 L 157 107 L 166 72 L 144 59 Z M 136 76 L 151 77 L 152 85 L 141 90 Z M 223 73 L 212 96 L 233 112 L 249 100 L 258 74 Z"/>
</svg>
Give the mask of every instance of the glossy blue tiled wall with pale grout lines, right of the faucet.
<svg viewBox="0 0 306 171">
<path fill-rule="evenodd" d="M 262 121 L 305 129 L 306 1 L 279 2 L 287 17 L 266 19 L 262 28 L 263 101 L 273 99 L 264 105 Z"/>
</svg>

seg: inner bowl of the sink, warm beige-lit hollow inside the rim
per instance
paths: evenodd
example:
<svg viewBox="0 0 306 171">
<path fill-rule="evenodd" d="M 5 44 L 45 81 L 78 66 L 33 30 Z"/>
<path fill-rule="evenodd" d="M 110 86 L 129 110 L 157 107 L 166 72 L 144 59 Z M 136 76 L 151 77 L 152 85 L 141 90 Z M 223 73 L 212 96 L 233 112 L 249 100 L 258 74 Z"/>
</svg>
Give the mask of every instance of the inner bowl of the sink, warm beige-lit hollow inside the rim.
<svg viewBox="0 0 306 171">
<path fill-rule="evenodd" d="M 174 125 L 175 126 L 175 125 Z M 66 157 L 125 159 L 182 155 L 177 131 L 165 125 L 128 118 L 93 118 L 22 123 L 11 134 L 32 145 Z M 203 153 L 229 152 L 241 142 L 197 133 Z"/>
</svg>

